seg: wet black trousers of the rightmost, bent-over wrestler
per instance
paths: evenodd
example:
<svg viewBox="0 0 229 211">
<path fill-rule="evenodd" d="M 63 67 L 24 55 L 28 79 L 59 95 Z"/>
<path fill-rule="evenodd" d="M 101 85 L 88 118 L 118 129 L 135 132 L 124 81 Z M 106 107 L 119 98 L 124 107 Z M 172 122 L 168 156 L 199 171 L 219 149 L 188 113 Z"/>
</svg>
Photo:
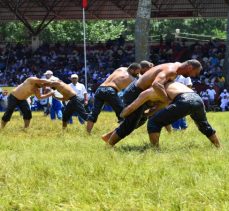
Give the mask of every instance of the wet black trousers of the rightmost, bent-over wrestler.
<svg viewBox="0 0 229 211">
<path fill-rule="evenodd" d="M 195 92 L 176 96 L 169 106 L 155 113 L 148 120 L 148 133 L 160 133 L 163 126 L 169 125 L 186 115 L 191 116 L 198 129 L 207 137 L 215 133 L 207 121 L 204 103 Z"/>
</svg>

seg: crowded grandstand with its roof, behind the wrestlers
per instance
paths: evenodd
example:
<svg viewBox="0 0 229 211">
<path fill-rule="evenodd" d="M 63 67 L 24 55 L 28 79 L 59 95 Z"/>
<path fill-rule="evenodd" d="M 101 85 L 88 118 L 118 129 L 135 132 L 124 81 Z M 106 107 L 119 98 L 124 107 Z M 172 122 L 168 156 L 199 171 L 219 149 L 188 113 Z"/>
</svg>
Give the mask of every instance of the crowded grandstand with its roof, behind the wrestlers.
<svg viewBox="0 0 229 211">
<path fill-rule="evenodd" d="M 20 20 L 34 35 L 52 20 L 81 19 L 81 1 L 0 1 L 0 20 Z M 88 19 L 124 19 L 136 16 L 138 1 L 92 0 L 87 8 Z M 99 10 L 98 10 L 99 8 Z M 180 0 L 155 1 L 152 18 L 181 17 L 226 17 L 227 6 L 223 0 Z M 37 28 L 31 20 L 42 20 Z M 226 88 L 223 77 L 223 63 L 226 47 L 222 41 L 202 40 L 195 35 L 179 34 L 179 40 L 152 43 L 150 59 L 155 64 L 184 61 L 189 58 L 200 60 L 204 71 L 194 87 L 200 93 L 214 86 L 217 96 Z M 183 38 L 189 42 L 186 42 Z M 88 87 L 95 91 L 99 84 L 117 67 L 127 66 L 134 59 L 134 44 L 124 40 L 112 43 L 89 45 Z M 77 73 L 84 83 L 83 48 L 79 44 L 42 44 L 35 51 L 30 45 L 3 45 L 0 49 L 0 86 L 16 86 L 25 78 L 41 77 L 47 69 L 65 82 Z M 216 96 L 216 101 L 217 101 Z"/>
</svg>

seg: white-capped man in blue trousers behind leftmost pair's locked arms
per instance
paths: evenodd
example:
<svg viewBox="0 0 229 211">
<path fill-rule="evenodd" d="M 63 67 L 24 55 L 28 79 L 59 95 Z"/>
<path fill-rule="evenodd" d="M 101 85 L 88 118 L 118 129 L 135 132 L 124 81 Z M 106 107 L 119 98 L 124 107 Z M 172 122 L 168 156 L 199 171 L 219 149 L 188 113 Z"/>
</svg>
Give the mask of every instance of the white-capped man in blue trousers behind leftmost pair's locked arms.
<svg viewBox="0 0 229 211">
<path fill-rule="evenodd" d="M 59 80 L 59 78 L 53 76 L 53 72 L 51 70 L 47 70 L 45 73 L 45 78 L 48 80 Z M 58 119 L 62 119 L 63 117 L 63 113 L 62 113 L 62 108 L 63 108 L 63 104 L 61 103 L 61 101 L 51 97 L 52 99 L 49 101 L 51 106 L 50 106 L 50 118 L 51 120 L 55 120 L 56 117 Z"/>
</svg>

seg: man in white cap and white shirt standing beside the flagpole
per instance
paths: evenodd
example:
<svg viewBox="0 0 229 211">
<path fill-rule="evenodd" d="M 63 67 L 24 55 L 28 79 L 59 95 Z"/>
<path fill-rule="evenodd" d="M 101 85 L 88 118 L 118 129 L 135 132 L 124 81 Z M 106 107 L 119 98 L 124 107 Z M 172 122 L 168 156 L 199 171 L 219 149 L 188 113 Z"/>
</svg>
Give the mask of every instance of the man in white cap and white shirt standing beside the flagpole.
<svg viewBox="0 0 229 211">
<path fill-rule="evenodd" d="M 72 83 L 70 83 L 69 86 L 75 91 L 81 103 L 84 105 L 85 109 L 87 110 L 88 95 L 84 84 L 79 83 L 79 76 L 77 74 L 71 75 L 71 81 Z M 77 116 L 77 114 L 74 115 Z M 78 116 L 78 119 L 81 124 L 84 124 L 84 120 L 80 116 Z M 70 123 L 72 123 L 72 118 L 70 119 Z"/>
</svg>

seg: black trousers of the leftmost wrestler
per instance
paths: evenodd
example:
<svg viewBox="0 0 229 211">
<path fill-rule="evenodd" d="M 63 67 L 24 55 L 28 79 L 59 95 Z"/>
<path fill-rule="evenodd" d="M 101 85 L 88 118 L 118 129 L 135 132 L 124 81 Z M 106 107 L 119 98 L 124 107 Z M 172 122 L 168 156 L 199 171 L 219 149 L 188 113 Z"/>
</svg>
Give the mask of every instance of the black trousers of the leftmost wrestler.
<svg viewBox="0 0 229 211">
<path fill-rule="evenodd" d="M 10 121 L 11 116 L 17 106 L 19 107 L 19 109 L 22 112 L 23 119 L 30 120 L 32 118 L 32 113 L 31 113 L 27 100 L 18 100 L 15 96 L 10 94 L 8 96 L 8 105 L 6 108 L 6 112 L 4 113 L 2 117 L 2 120 L 4 122 Z"/>
</svg>

